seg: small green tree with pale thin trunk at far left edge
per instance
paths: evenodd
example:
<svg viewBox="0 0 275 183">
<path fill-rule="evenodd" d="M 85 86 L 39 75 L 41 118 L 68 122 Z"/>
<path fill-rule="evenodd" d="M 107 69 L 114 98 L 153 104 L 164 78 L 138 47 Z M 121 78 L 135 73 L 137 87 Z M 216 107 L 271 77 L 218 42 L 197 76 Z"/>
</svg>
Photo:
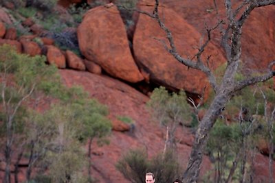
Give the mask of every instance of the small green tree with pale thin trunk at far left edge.
<svg viewBox="0 0 275 183">
<path fill-rule="evenodd" d="M 1 102 L 5 126 L 5 176 L 3 182 L 10 183 L 12 145 L 14 134 L 22 127 L 20 110 L 23 103 L 32 99 L 45 80 L 54 75 L 56 69 L 45 65 L 45 58 L 17 54 L 12 47 L 0 47 Z"/>
</svg>

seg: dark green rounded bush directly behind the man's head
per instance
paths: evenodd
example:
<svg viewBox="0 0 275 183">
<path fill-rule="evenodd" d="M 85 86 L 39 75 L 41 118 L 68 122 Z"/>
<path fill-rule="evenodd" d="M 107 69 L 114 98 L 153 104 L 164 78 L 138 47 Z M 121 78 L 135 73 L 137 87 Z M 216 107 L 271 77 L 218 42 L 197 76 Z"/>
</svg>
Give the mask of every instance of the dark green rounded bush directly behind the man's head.
<svg viewBox="0 0 275 183">
<path fill-rule="evenodd" d="M 116 167 L 126 179 L 135 183 L 145 182 L 146 172 L 155 174 L 155 182 L 173 182 L 181 170 L 172 151 L 167 151 L 164 156 L 158 154 L 149 160 L 143 149 L 130 150 L 118 161 Z"/>
</svg>

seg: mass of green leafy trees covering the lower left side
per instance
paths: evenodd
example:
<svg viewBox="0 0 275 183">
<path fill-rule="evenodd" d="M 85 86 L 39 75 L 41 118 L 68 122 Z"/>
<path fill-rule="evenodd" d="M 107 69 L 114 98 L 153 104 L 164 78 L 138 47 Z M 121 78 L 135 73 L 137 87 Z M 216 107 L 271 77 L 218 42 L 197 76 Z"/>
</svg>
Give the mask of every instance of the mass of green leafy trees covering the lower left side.
<svg viewBox="0 0 275 183">
<path fill-rule="evenodd" d="M 39 177 L 48 175 L 45 182 L 87 182 L 83 176 L 87 156 L 81 146 L 88 138 L 100 140 L 111 132 L 107 107 L 89 99 L 83 88 L 66 88 L 56 66 L 45 61 L 43 56 L 19 55 L 7 45 L 0 47 L 4 109 L 0 138 L 10 145 L 1 145 L 5 148 L 1 151 L 25 151 L 28 174 L 36 167 Z M 37 103 L 48 98 L 56 103 L 37 112 Z"/>
</svg>

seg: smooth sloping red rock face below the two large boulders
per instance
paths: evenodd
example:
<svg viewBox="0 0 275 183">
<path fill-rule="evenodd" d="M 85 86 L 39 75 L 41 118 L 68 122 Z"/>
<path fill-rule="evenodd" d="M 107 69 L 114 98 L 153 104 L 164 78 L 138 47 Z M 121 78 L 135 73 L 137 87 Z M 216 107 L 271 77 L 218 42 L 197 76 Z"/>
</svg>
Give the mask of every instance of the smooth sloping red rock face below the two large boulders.
<svg viewBox="0 0 275 183">
<path fill-rule="evenodd" d="M 151 158 L 164 148 L 165 129 L 151 121 L 150 114 L 146 110 L 148 97 L 142 95 L 134 88 L 115 80 L 111 77 L 95 75 L 88 72 L 60 70 L 63 82 L 67 86 L 78 84 L 83 86 L 92 97 L 109 108 L 109 117 L 115 121 L 118 116 L 131 117 L 135 123 L 133 132 L 112 131 L 108 137 L 109 145 L 98 147 L 96 141 L 92 145 L 94 153 L 91 155 L 93 167 L 91 175 L 101 183 L 130 183 L 115 169 L 115 164 L 129 149 L 137 147 L 147 149 Z M 177 129 L 176 138 L 181 140 L 177 144 L 179 163 L 185 168 L 192 144 L 192 134 L 185 128 Z M 203 156 L 201 175 L 210 169 L 210 161 Z"/>
</svg>

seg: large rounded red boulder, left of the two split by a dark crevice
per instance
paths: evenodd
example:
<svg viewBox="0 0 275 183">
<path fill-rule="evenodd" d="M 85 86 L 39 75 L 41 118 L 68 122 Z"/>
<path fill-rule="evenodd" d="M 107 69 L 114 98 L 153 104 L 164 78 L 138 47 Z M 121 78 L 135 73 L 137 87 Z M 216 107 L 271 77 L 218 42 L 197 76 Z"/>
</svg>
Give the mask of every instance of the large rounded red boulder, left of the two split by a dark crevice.
<svg viewBox="0 0 275 183">
<path fill-rule="evenodd" d="M 93 8 L 85 14 L 77 31 L 80 51 L 113 77 L 140 82 L 144 77 L 131 55 L 120 12 L 111 5 Z"/>
</svg>

